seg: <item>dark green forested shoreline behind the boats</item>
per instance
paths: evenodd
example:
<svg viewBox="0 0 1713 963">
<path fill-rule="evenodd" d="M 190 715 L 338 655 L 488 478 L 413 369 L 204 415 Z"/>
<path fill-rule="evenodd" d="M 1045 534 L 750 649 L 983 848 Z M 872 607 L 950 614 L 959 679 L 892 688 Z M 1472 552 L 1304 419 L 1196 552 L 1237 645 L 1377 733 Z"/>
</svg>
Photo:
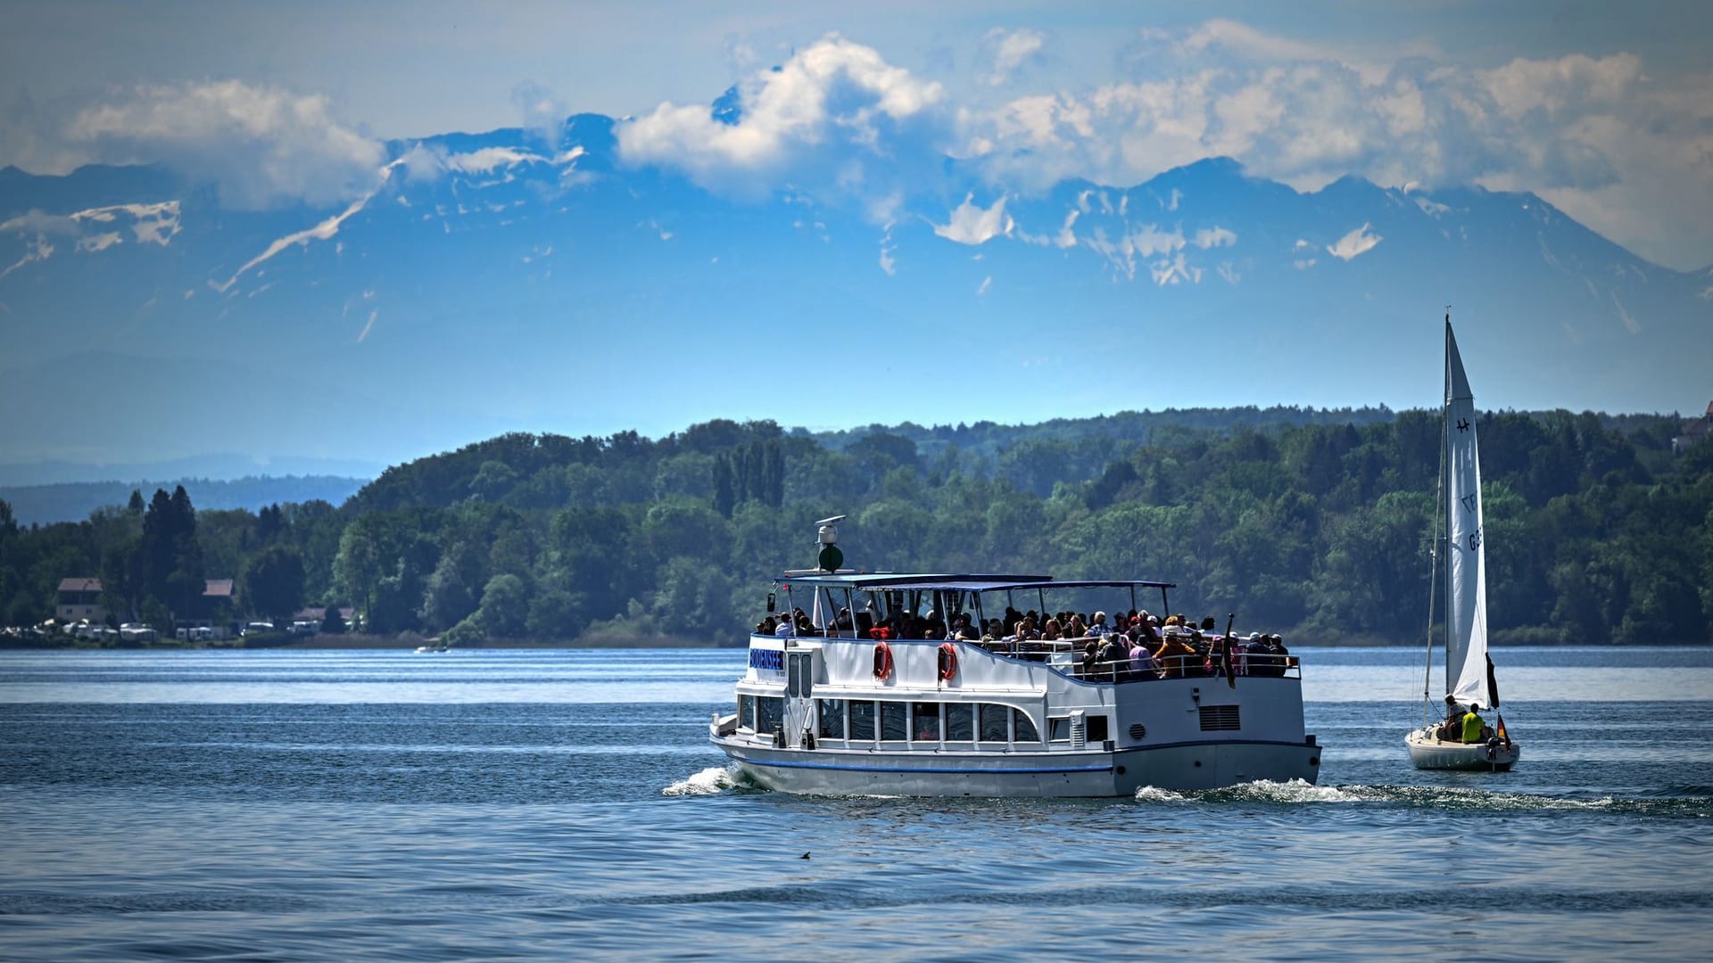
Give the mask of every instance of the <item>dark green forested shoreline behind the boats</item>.
<svg viewBox="0 0 1713 963">
<path fill-rule="evenodd" d="M 1489 624 L 1499 644 L 1713 641 L 1713 444 L 1675 416 L 1480 418 Z M 1173 581 L 1302 644 L 1420 644 L 1439 413 L 1124 413 L 1045 425 L 815 435 L 714 420 L 651 440 L 509 434 L 389 468 L 343 505 L 197 511 L 139 492 L 82 523 L 0 502 L 0 624 L 53 613 L 63 577 L 170 624 L 207 577 L 233 617 L 356 610 L 452 644 L 738 644 L 767 579 L 810 567 L 845 514 L 846 565 Z M 175 595 L 176 593 L 176 595 Z"/>
</svg>

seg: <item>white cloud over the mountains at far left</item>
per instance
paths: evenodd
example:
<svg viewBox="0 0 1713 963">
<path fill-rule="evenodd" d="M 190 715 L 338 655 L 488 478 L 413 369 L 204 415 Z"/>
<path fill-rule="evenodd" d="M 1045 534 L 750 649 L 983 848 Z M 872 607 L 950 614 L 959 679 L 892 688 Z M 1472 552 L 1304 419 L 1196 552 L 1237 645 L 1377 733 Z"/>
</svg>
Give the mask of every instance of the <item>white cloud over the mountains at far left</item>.
<svg viewBox="0 0 1713 963">
<path fill-rule="evenodd" d="M 385 147 L 337 120 L 327 98 L 242 81 L 140 84 L 84 108 L 65 137 L 110 163 L 166 163 L 212 180 L 243 209 L 349 200 L 375 187 Z"/>
</svg>

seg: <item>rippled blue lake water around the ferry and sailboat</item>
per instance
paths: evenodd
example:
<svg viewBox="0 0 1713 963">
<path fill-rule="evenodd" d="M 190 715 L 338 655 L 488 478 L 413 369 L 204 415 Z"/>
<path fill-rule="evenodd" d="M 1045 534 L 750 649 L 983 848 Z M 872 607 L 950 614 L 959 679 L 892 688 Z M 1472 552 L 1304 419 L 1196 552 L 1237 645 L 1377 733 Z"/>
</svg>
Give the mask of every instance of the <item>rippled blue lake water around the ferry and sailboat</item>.
<svg viewBox="0 0 1713 963">
<path fill-rule="evenodd" d="M 1504 775 L 1293 651 L 1321 785 L 1117 800 L 735 785 L 740 649 L 0 653 L 0 958 L 1706 958 L 1713 649 L 1502 653 Z"/>
</svg>

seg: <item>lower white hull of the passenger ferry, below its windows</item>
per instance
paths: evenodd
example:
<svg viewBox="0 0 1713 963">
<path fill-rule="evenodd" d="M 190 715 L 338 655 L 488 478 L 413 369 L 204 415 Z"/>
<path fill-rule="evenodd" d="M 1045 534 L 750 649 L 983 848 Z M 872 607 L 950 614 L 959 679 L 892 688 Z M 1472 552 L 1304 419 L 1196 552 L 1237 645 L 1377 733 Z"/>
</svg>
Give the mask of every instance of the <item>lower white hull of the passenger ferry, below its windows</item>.
<svg viewBox="0 0 1713 963">
<path fill-rule="evenodd" d="M 714 739 L 750 778 L 807 795 L 1117 797 L 1319 776 L 1321 747 L 1211 742 L 1086 752 L 851 752 Z"/>
</svg>

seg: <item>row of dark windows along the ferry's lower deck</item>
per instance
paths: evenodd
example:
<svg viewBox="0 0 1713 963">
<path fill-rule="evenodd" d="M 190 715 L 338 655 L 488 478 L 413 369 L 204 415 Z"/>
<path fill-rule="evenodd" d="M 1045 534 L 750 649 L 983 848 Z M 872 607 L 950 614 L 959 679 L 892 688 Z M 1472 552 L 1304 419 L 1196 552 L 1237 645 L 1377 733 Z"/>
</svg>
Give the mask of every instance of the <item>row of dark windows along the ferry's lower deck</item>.
<svg viewBox="0 0 1713 963">
<path fill-rule="evenodd" d="M 867 699 L 815 699 L 817 739 L 872 742 L 1040 742 L 1040 730 L 1023 709 L 994 703 L 870 703 Z M 785 699 L 738 696 L 738 725 L 757 735 L 774 733 L 785 718 Z M 1071 739 L 1069 718 L 1050 718 L 1053 742 Z M 1108 739 L 1107 716 L 1086 720 L 1089 742 Z"/>
</svg>

